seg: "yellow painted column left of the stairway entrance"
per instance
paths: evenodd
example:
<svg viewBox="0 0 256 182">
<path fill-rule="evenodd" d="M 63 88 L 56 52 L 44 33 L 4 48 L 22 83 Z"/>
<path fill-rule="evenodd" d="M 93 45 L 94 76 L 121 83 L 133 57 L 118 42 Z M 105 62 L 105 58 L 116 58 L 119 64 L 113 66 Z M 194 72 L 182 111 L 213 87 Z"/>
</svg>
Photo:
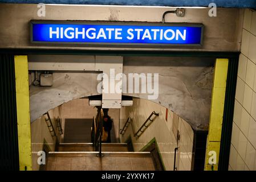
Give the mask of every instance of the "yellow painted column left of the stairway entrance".
<svg viewBox="0 0 256 182">
<path fill-rule="evenodd" d="M 27 56 L 14 56 L 14 65 L 19 143 L 19 169 L 21 171 L 32 170 L 29 72 Z"/>
</svg>

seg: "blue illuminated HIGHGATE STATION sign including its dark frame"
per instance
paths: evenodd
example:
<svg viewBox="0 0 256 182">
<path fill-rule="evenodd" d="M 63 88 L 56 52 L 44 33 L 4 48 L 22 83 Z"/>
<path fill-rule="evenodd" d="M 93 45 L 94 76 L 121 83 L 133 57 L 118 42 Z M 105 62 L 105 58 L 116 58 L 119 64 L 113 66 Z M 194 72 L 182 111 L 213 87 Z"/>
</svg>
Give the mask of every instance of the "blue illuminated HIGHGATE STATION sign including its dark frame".
<svg viewBox="0 0 256 182">
<path fill-rule="evenodd" d="M 202 46 L 202 24 L 31 21 L 32 43 Z"/>
</svg>

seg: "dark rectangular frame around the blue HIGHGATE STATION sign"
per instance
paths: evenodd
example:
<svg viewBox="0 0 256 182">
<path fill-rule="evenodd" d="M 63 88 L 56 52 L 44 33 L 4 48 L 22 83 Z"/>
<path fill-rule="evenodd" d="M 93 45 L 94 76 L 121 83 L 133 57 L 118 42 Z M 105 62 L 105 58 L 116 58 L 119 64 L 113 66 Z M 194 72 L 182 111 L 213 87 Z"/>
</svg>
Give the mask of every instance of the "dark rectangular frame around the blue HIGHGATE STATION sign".
<svg viewBox="0 0 256 182">
<path fill-rule="evenodd" d="M 100 43 L 100 42 L 43 42 L 33 40 L 33 24 L 92 24 L 111 26 L 184 26 L 201 27 L 200 44 L 166 44 L 166 43 Z M 202 23 L 159 23 L 159 22 L 108 22 L 80 20 L 30 20 L 30 43 L 40 46 L 75 46 L 75 47 L 140 47 L 140 48 L 202 48 L 204 24 Z"/>
</svg>

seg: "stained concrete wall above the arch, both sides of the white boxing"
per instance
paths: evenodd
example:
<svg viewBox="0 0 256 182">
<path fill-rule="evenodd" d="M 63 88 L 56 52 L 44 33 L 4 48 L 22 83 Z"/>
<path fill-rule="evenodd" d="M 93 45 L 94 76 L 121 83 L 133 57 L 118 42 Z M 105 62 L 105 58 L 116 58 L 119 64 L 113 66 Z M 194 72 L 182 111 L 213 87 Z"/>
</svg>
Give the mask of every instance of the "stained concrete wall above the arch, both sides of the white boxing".
<svg viewBox="0 0 256 182">
<path fill-rule="evenodd" d="M 159 97 L 152 101 L 180 115 L 195 130 L 207 130 L 214 61 L 203 57 L 129 56 L 124 57 L 123 73 L 159 73 Z M 31 85 L 31 121 L 65 102 L 99 94 L 97 74 L 54 72 L 51 87 Z M 148 94 L 141 92 L 126 95 L 148 99 Z"/>
</svg>

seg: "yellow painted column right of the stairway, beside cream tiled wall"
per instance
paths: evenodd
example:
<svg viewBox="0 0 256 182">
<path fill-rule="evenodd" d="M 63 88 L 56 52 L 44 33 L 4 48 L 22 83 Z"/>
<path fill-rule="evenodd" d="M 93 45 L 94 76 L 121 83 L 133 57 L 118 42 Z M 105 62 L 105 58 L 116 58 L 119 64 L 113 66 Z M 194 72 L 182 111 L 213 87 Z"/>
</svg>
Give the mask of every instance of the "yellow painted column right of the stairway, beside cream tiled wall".
<svg viewBox="0 0 256 182">
<path fill-rule="evenodd" d="M 228 65 L 228 59 L 216 59 L 213 77 L 209 133 L 205 154 L 206 171 L 218 170 Z"/>
</svg>

